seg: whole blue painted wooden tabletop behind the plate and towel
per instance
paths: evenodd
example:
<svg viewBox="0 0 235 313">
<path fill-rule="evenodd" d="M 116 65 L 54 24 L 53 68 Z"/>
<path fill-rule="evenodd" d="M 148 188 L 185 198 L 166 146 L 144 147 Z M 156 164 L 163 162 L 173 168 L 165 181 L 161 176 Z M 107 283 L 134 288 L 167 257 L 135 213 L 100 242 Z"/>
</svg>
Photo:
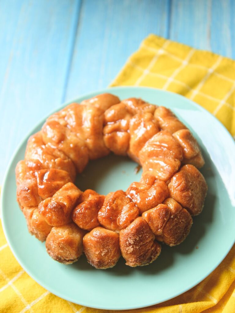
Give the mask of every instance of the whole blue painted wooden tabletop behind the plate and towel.
<svg viewBox="0 0 235 313">
<path fill-rule="evenodd" d="M 233 0 L 1 0 L 0 183 L 30 129 L 106 87 L 149 33 L 235 59 Z"/>
</svg>

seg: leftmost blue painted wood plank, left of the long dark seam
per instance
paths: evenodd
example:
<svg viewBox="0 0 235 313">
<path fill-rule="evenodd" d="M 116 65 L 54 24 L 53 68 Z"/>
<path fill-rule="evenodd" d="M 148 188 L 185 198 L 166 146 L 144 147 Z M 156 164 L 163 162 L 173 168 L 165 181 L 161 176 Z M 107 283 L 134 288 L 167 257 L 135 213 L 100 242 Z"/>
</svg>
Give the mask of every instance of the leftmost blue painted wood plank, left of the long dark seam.
<svg viewBox="0 0 235 313">
<path fill-rule="evenodd" d="M 0 2 L 0 182 L 19 141 L 61 103 L 79 9 L 73 0 Z"/>
</svg>

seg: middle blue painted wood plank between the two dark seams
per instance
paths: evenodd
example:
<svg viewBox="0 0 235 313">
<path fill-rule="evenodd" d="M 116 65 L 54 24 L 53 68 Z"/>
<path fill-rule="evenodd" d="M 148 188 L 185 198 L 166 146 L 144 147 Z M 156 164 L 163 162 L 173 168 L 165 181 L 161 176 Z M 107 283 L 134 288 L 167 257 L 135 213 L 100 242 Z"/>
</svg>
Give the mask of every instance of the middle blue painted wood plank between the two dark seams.
<svg viewBox="0 0 235 313">
<path fill-rule="evenodd" d="M 149 33 L 167 37 L 169 3 L 83 0 L 65 99 L 109 85 Z"/>
</svg>

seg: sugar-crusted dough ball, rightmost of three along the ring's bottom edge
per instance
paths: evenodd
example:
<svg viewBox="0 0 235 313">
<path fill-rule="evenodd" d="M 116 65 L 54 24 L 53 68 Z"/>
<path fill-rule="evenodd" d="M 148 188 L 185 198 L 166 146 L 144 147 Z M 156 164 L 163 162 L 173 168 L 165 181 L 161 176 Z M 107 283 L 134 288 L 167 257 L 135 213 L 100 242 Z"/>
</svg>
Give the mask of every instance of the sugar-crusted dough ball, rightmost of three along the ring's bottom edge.
<svg viewBox="0 0 235 313">
<path fill-rule="evenodd" d="M 127 228 L 121 230 L 120 249 L 126 265 L 148 265 L 157 259 L 161 246 L 154 239 L 148 223 L 142 217 L 136 218 Z"/>
</svg>

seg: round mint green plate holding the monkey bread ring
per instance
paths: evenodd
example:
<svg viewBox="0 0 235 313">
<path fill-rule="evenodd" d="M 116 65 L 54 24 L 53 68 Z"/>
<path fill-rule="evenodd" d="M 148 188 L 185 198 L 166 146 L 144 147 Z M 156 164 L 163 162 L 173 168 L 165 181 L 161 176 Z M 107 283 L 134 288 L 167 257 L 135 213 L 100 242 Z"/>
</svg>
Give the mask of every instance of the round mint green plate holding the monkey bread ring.
<svg viewBox="0 0 235 313">
<path fill-rule="evenodd" d="M 193 132 L 206 164 L 202 169 L 208 194 L 202 213 L 193 219 L 191 232 L 179 246 L 162 246 L 154 263 L 131 268 L 123 259 L 112 269 L 97 270 L 82 256 L 72 265 L 49 257 L 44 243 L 30 236 L 16 202 L 15 166 L 24 158 L 26 142 L 18 147 L 8 167 L 2 190 L 3 228 L 18 262 L 40 285 L 66 300 L 94 308 L 123 310 L 154 305 L 189 290 L 209 275 L 225 258 L 234 239 L 235 143 L 222 124 L 194 102 L 170 92 L 151 88 L 117 87 L 76 99 L 80 102 L 98 93 L 111 92 L 121 99 L 141 97 L 172 109 Z M 63 105 L 64 106 L 64 105 Z M 58 108 L 59 110 L 60 108 Z M 29 134 L 38 131 L 41 121 Z M 136 164 L 125 157 L 107 156 L 91 162 L 77 177 L 82 190 L 107 194 L 125 190 L 141 176 Z"/>
</svg>

